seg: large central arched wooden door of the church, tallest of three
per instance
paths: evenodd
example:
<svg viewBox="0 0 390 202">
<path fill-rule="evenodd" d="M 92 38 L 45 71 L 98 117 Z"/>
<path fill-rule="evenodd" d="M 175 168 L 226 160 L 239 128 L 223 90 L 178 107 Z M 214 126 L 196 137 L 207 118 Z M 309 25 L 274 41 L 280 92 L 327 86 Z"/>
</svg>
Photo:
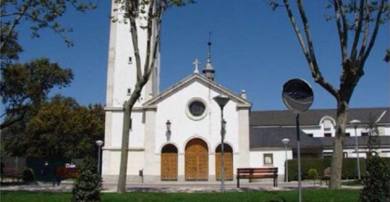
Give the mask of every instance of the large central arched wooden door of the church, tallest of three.
<svg viewBox="0 0 390 202">
<path fill-rule="evenodd" d="M 207 143 L 191 139 L 185 146 L 185 180 L 208 180 L 209 157 Z"/>
</svg>

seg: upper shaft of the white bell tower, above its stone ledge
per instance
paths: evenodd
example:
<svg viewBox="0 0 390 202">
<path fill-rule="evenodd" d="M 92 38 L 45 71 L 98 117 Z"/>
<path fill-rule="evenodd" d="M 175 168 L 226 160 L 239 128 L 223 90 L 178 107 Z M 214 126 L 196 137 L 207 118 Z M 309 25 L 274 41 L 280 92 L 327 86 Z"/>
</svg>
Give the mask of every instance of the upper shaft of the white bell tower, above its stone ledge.
<svg viewBox="0 0 390 202">
<path fill-rule="evenodd" d="M 130 32 L 130 22 L 124 18 L 124 14 L 125 11 L 121 9 L 121 6 L 113 2 L 111 6 L 111 17 L 116 22 L 110 22 L 106 107 L 123 107 L 124 102 L 130 98 L 137 82 L 136 61 Z M 142 29 L 141 27 L 146 26 L 147 21 L 144 18 L 139 18 L 136 22 L 143 72 L 146 57 L 147 29 Z M 154 44 L 155 36 L 157 35 L 155 24 L 153 24 L 152 30 L 151 44 Z M 155 59 L 153 72 L 150 75 L 149 81 L 143 87 L 141 97 L 134 107 L 141 107 L 144 102 L 159 93 L 160 48 L 155 48 L 157 48 L 157 58 Z"/>
</svg>

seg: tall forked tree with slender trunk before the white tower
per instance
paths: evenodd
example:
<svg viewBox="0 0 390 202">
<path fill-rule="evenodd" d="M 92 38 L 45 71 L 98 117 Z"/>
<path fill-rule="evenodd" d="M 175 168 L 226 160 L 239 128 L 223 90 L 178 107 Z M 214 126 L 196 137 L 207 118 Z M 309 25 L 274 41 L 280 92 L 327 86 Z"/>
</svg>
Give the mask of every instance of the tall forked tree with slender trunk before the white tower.
<svg viewBox="0 0 390 202">
<path fill-rule="evenodd" d="M 118 9 L 125 12 L 124 21 L 130 25 L 131 39 L 133 42 L 133 50 L 135 57 L 135 65 L 137 69 L 137 82 L 130 98 L 124 103 L 123 117 L 123 132 L 122 132 L 122 147 L 121 147 L 121 166 L 118 180 L 118 193 L 125 192 L 126 174 L 128 164 L 128 146 L 129 146 L 129 131 L 131 111 L 138 98 L 141 96 L 141 91 L 144 85 L 149 80 L 150 74 L 153 71 L 154 63 L 157 58 L 157 53 L 160 45 L 161 22 L 164 11 L 167 7 L 177 6 L 182 7 L 187 3 L 193 3 L 193 0 L 113 0 L 114 4 L 118 5 Z M 115 9 L 116 10 L 116 9 Z M 146 25 L 136 23 L 137 18 L 145 19 Z M 118 19 L 112 19 L 113 22 Z M 141 58 L 139 53 L 138 43 L 138 28 L 146 29 L 146 55 Z M 154 35 L 154 34 L 155 35 Z M 141 67 L 141 60 L 144 60 L 144 66 Z"/>
</svg>

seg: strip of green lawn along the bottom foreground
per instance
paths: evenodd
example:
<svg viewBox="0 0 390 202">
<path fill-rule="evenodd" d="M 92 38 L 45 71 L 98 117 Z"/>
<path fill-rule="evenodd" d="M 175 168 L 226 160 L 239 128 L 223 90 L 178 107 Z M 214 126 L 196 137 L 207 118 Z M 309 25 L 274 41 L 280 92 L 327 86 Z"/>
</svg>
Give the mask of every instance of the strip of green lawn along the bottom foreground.
<svg viewBox="0 0 390 202">
<path fill-rule="evenodd" d="M 124 194 L 102 193 L 102 201 L 200 201 L 200 202 L 293 202 L 297 201 L 297 191 L 247 191 L 247 192 L 226 192 L 221 193 L 151 193 L 151 192 L 129 192 Z M 303 190 L 304 202 L 353 202 L 358 201 L 359 190 L 328 190 L 309 189 Z M 37 202 L 50 201 L 62 202 L 70 201 L 71 193 L 51 193 L 51 192 L 27 192 L 27 191 L 2 191 L 2 202 Z"/>
</svg>

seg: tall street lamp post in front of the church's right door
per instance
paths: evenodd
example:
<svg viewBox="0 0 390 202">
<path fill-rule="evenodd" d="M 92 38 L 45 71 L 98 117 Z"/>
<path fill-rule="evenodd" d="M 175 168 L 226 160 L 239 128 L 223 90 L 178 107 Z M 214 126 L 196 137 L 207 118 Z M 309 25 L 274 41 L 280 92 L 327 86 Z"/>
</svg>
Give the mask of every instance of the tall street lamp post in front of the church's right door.
<svg viewBox="0 0 390 202">
<path fill-rule="evenodd" d="M 224 157 L 223 157 L 223 139 L 225 138 L 225 126 L 226 121 L 223 119 L 223 107 L 229 102 L 230 98 L 224 95 L 218 95 L 213 97 L 215 102 L 221 109 L 221 192 L 225 192 L 225 170 L 224 170 Z"/>
</svg>

